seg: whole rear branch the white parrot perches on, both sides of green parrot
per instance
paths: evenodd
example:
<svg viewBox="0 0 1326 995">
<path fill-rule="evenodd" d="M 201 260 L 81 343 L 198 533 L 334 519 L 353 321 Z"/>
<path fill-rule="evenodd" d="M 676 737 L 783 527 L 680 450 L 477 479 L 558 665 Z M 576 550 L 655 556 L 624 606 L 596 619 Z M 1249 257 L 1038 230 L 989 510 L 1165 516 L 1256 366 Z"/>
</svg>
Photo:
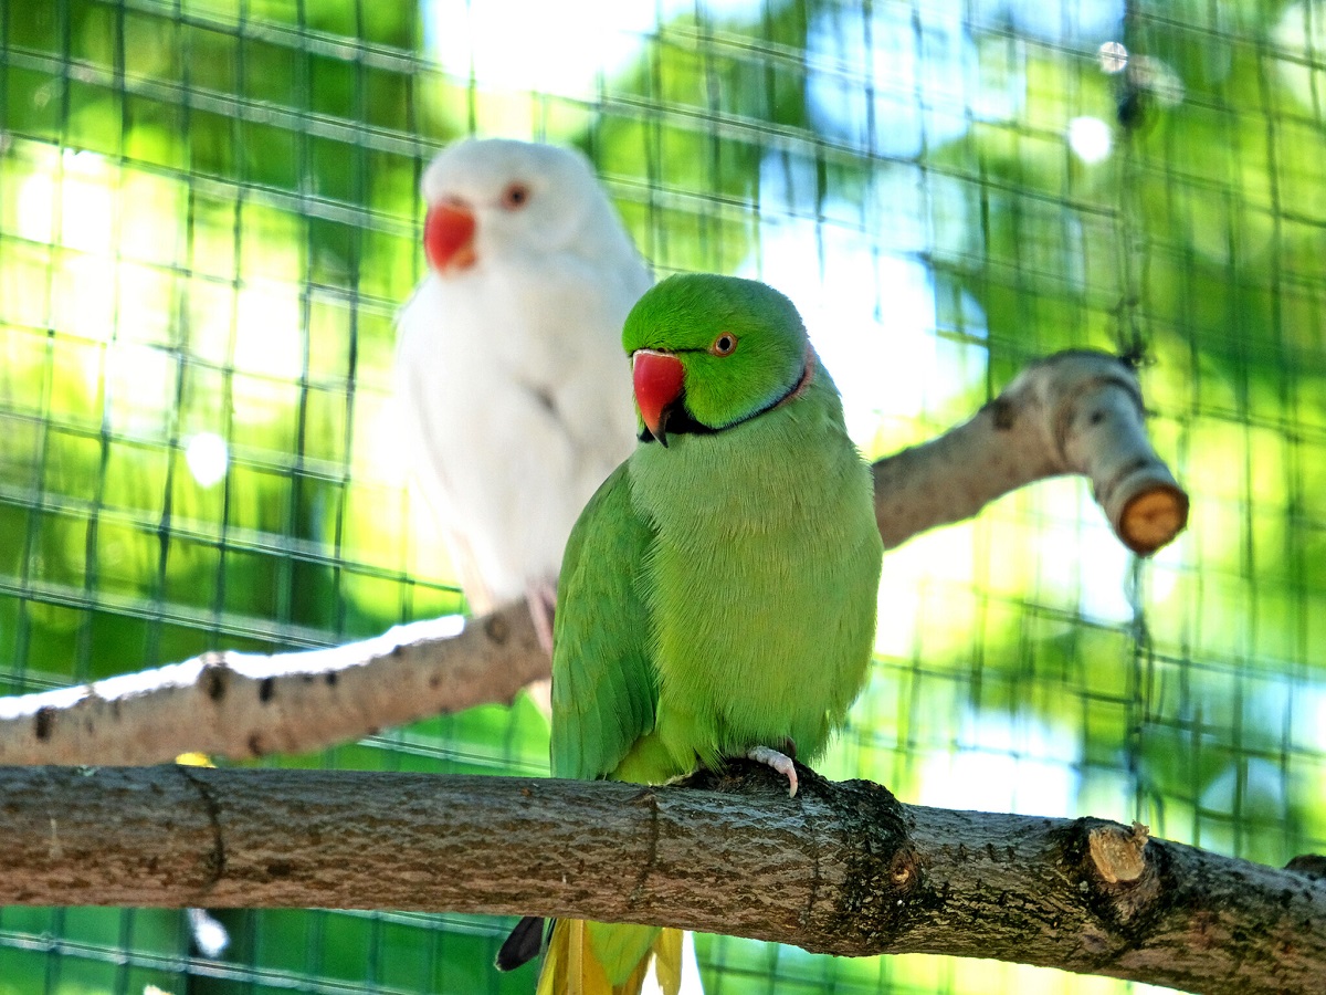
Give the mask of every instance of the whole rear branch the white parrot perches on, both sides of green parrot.
<svg viewBox="0 0 1326 995">
<path fill-rule="evenodd" d="M 874 466 L 886 548 L 1049 476 L 1078 474 L 1120 541 L 1146 555 L 1185 525 L 1188 498 L 1146 435 L 1134 370 L 1067 352 L 1024 370 L 969 422 Z M 546 678 L 524 605 L 366 642 L 272 657 L 207 653 L 81 687 L 0 698 L 0 764 L 160 763 L 306 752 L 379 728 L 509 702 Z"/>
</svg>

